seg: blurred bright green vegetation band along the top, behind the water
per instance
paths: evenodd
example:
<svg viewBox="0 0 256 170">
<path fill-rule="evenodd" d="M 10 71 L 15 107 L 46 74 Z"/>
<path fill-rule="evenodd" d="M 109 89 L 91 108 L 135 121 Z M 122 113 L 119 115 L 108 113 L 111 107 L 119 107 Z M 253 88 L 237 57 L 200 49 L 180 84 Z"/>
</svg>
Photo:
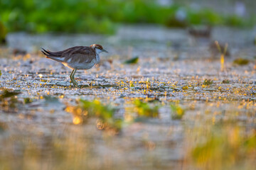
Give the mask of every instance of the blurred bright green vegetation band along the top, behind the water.
<svg viewBox="0 0 256 170">
<path fill-rule="evenodd" d="M 154 23 L 168 27 L 187 27 L 198 24 L 248 27 L 255 24 L 254 15 L 242 17 L 235 13 L 220 13 L 207 6 L 196 8 L 193 7 L 192 2 L 188 1 L 177 2 L 168 0 L 0 0 L 0 38 L 4 37 L 6 30 L 29 33 L 51 31 L 112 34 L 119 23 Z M 231 1 L 232 3 L 234 4 L 235 1 Z M 225 1 L 220 1 L 219 6 L 223 8 L 223 4 Z"/>
</svg>

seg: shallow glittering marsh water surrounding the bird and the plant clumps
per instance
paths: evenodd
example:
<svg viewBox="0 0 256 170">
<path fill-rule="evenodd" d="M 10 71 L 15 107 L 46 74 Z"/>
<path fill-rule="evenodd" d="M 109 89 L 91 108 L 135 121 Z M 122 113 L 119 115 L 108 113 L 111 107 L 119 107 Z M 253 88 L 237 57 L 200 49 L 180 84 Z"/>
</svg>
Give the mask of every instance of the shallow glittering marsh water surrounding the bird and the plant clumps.
<svg viewBox="0 0 256 170">
<path fill-rule="evenodd" d="M 0 169 L 200 169 L 191 152 L 216 125 L 223 128 L 221 137 L 233 128 L 241 141 L 256 135 L 255 35 L 255 30 L 214 28 L 211 38 L 194 38 L 186 30 L 157 26 L 123 26 L 111 36 L 9 34 L 8 45 L 1 47 L 0 86 L 21 94 L 16 107 L 0 111 Z M 209 50 L 214 40 L 228 42 L 231 56 L 225 57 L 223 71 L 220 56 Z M 70 69 L 39 52 L 40 47 L 55 51 L 92 43 L 109 53 L 96 67 L 75 74 L 80 89 L 71 86 Z M 14 48 L 28 53 L 14 56 Z M 123 64 L 136 56 L 137 64 Z M 249 64 L 233 64 L 238 57 Z M 213 82 L 203 84 L 205 79 Z M 97 130 L 97 118 L 75 125 L 65 108 L 78 98 L 117 108 L 114 117 L 124 120 L 119 134 Z M 137 119 L 137 98 L 159 106 L 159 118 Z M 170 103 L 185 111 L 181 120 L 171 117 Z M 204 157 L 204 164 L 216 160 Z M 242 152 L 233 159 L 250 169 L 255 157 L 252 149 L 249 156 Z M 210 169 L 235 166 L 227 161 Z"/>
</svg>

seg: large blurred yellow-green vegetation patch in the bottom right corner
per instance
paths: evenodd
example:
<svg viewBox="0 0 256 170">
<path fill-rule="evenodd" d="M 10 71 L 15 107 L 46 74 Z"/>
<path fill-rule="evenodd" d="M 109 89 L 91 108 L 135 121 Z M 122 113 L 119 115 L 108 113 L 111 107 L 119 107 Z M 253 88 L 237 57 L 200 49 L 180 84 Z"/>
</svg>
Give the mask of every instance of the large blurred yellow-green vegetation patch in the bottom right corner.
<svg viewBox="0 0 256 170">
<path fill-rule="evenodd" d="M 203 137 L 204 142 L 193 147 L 193 162 L 202 169 L 251 169 L 256 155 L 256 132 L 244 131 L 238 125 L 213 125 Z"/>
</svg>

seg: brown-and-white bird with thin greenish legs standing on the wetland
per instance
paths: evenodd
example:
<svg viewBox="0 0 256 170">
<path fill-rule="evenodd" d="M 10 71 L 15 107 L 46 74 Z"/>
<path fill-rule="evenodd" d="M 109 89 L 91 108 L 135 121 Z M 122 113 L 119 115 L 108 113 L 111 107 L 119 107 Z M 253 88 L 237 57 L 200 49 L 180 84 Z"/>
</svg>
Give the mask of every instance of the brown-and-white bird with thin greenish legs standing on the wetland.
<svg viewBox="0 0 256 170">
<path fill-rule="evenodd" d="M 74 78 L 75 72 L 78 69 L 90 69 L 95 64 L 100 63 L 100 52 L 107 52 L 107 50 L 103 49 L 102 45 L 93 44 L 89 47 L 70 47 L 58 52 L 50 52 L 42 47 L 41 52 L 43 52 L 43 55 L 46 55 L 46 58 L 60 62 L 65 65 L 65 67 L 73 69 L 70 74 L 70 80 L 73 83 L 73 86 L 79 87 Z"/>
</svg>

